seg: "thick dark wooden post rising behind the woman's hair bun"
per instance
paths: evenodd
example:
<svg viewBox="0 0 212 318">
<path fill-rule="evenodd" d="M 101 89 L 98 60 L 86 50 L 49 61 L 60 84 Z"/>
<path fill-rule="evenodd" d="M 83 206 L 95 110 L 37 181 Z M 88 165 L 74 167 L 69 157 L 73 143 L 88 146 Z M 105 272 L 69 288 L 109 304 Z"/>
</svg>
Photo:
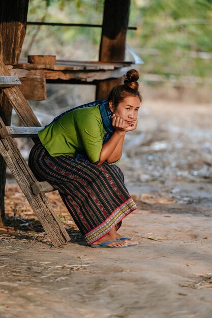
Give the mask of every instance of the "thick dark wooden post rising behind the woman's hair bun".
<svg viewBox="0 0 212 318">
<path fill-rule="evenodd" d="M 130 13 L 130 0 L 105 0 L 99 60 L 114 62 L 125 60 L 126 35 Z M 107 99 L 108 93 L 122 80 L 104 80 L 97 84 L 96 99 Z"/>
</svg>

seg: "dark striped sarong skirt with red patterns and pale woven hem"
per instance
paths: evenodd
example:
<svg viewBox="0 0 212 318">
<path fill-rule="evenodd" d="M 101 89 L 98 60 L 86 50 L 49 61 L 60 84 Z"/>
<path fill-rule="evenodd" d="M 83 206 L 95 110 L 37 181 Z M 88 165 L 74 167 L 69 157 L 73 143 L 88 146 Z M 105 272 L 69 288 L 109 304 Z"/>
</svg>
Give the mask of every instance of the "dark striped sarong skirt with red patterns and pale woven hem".
<svg viewBox="0 0 212 318">
<path fill-rule="evenodd" d="M 106 235 L 137 209 L 116 165 L 94 165 L 68 155 L 50 156 L 38 141 L 29 154 L 38 181 L 57 189 L 88 245 Z"/>
</svg>

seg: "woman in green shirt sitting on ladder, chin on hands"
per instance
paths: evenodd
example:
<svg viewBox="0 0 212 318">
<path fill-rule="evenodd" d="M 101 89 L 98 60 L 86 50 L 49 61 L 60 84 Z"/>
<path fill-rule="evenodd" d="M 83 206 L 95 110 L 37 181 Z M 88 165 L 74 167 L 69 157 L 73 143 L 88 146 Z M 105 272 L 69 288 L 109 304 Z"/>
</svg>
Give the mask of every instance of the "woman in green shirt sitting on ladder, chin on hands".
<svg viewBox="0 0 212 318">
<path fill-rule="evenodd" d="M 130 70 L 107 101 L 57 116 L 39 132 L 40 140 L 29 154 L 36 178 L 58 190 L 88 246 L 137 244 L 117 233 L 122 219 L 137 207 L 115 164 L 122 156 L 125 134 L 137 126 L 142 101 L 138 78 L 139 73 Z"/>
</svg>

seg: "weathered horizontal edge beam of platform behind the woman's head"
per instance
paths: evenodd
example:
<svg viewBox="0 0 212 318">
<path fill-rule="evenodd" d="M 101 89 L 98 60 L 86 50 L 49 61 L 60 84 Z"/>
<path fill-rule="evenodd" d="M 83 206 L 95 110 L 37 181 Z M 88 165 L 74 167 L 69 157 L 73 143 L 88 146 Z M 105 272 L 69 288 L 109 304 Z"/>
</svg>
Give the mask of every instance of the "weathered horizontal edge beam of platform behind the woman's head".
<svg viewBox="0 0 212 318">
<path fill-rule="evenodd" d="M 23 61 L 23 59 L 22 59 Z M 19 63 L 10 68 L 11 76 L 23 78 L 42 77 L 47 83 L 96 84 L 97 81 L 120 78 L 132 66 L 132 62 L 65 61 L 57 60 L 56 65 L 34 65 Z"/>
</svg>

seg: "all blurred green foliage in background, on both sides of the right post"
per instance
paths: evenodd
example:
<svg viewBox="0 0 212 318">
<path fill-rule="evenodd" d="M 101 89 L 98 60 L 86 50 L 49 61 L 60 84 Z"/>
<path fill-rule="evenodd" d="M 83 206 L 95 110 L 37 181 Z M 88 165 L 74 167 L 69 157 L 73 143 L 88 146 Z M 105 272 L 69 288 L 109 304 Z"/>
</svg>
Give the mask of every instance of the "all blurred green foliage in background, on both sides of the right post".
<svg viewBox="0 0 212 318">
<path fill-rule="evenodd" d="M 29 0 L 28 21 L 101 24 L 104 0 Z M 127 42 L 144 73 L 210 77 L 212 0 L 131 0 Z M 101 28 L 28 26 L 23 55 L 97 60 Z"/>
</svg>

